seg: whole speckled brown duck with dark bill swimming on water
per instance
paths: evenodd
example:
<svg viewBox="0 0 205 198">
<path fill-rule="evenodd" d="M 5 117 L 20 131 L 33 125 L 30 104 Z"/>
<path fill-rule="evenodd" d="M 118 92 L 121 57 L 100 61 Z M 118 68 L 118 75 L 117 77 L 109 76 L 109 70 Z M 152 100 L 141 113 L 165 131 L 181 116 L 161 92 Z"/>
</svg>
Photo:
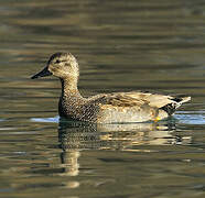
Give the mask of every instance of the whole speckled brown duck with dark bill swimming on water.
<svg viewBox="0 0 205 198">
<path fill-rule="evenodd" d="M 83 97 L 78 90 L 79 66 L 67 52 L 53 54 L 46 66 L 32 79 L 55 76 L 60 78 L 62 92 L 58 100 L 61 118 L 94 123 L 158 122 L 174 114 L 184 102 L 185 95 L 161 95 L 148 91 L 110 92 Z"/>
</svg>

